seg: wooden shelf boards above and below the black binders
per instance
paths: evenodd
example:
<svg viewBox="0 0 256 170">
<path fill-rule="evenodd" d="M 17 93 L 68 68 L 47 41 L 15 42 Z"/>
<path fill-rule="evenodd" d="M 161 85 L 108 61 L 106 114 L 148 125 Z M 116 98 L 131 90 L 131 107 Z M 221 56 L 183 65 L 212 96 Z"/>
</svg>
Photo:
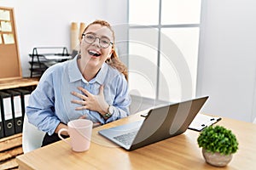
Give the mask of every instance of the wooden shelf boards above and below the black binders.
<svg viewBox="0 0 256 170">
<path fill-rule="evenodd" d="M 32 91 L 38 85 L 38 78 L 20 78 L 0 81 L 0 90 L 24 88 Z M 22 133 L 16 133 L 0 139 L 0 169 L 15 169 L 18 164 L 16 156 L 23 154 Z"/>
</svg>

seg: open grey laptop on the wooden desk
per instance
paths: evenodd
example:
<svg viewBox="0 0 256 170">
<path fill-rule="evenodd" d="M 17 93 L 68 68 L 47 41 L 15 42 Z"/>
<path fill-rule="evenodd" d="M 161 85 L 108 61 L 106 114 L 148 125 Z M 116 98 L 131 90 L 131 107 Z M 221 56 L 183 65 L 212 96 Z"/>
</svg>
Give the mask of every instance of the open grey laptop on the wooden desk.
<svg viewBox="0 0 256 170">
<path fill-rule="evenodd" d="M 102 129 L 98 133 L 125 150 L 136 150 L 148 144 L 184 133 L 208 96 L 150 109 L 142 121 Z"/>
</svg>

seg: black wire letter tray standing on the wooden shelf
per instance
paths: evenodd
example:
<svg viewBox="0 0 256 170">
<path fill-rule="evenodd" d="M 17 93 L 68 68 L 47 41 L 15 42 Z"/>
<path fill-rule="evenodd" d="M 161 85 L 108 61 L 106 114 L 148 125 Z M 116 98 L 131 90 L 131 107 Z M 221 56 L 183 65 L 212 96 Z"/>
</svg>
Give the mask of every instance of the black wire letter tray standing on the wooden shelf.
<svg viewBox="0 0 256 170">
<path fill-rule="evenodd" d="M 66 47 L 38 47 L 32 49 L 29 54 L 31 61 L 30 77 L 41 77 L 44 71 L 51 65 L 71 59 Z"/>
</svg>

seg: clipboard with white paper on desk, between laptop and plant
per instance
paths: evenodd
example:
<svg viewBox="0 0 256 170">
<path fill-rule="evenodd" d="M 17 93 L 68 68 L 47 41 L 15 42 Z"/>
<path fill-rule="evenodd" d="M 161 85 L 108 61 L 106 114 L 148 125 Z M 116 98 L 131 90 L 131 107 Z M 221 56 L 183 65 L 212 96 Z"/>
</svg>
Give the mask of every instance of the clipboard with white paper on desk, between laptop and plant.
<svg viewBox="0 0 256 170">
<path fill-rule="evenodd" d="M 195 119 L 189 125 L 189 129 L 201 132 L 205 127 L 211 126 L 212 124 L 221 120 L 218 116 L 207 116 L 203 114 L 197 114 Z"/>
</svg>

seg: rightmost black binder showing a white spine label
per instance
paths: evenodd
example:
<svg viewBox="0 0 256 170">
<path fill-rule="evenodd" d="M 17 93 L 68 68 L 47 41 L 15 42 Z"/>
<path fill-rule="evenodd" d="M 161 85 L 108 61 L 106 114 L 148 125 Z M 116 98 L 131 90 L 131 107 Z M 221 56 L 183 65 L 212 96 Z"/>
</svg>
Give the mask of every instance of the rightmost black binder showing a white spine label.
<svg viewBox="0 0 256 170">
<path fill-rule="evenodd" d="M 23 127 L 23 116 L 20 93 L 15 90 L 5 90 L 11 95 L 12 113 L 15 120 L 15 133 L 21 133 Z"/>
</svg>

